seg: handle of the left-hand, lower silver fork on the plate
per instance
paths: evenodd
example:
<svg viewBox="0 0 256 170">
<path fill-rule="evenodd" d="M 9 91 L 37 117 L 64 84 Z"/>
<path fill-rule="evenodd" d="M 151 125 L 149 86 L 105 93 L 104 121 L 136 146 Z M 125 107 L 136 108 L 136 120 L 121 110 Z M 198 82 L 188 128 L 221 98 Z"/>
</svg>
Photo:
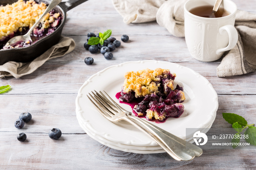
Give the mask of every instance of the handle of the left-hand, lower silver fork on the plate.
<svg viewBox="0 0 256 170">
<path fill-rule="evenodd" d="M 188 147 L 182 145 L 181 143 L 167 138 L 162 132 L 159 132 L 155 128 L 148 126 L 136 119 L 130 119 L 129 117 L 123 117 L 124 120 L 133 124 L 135 127 L 139 128 L 141 131 L 145 132 L 148 136 L 155 140 L 170 156 L 178 161 L 190 161 L 195 158 L 195 152 Z"/>
</svg>

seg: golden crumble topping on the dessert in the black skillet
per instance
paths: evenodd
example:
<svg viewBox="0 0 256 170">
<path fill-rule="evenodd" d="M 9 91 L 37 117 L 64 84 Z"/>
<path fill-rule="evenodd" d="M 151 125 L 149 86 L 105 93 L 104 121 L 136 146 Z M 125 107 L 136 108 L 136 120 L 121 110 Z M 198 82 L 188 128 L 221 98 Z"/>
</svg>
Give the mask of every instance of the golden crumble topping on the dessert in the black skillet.
<svg viewBox="0 0 256 170">
<path fill-rule="evenodd" d="M 33 0 L 18 0 L 16 3 L 6 6 L 0 6 L 0 40 L 4 39 L 22 27 L 33 25 L 39 16 L 45 11 L 46 4 L 37 4 Z M 47 18 L 48 17 L 48 18 Z M 44 21 L 49 16 L 44 17 Z"/>
</svg>

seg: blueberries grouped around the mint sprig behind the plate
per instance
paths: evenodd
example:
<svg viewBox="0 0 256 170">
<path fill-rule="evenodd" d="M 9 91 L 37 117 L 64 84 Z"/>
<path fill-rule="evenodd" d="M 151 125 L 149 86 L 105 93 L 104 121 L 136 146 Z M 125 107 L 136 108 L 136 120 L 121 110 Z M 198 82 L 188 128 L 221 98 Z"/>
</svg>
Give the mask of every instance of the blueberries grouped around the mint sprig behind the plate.
<svg viewBox="0 0 256 170">
<path fill-rule="evenodd" d="M 101 52 L 101 54 L 104 55 L 104 57 L 106 59 L 112 59 L 113 58 L 113 54 L 110 51 L 115 50 L 117 47 L 119 47 L 121 45 L 121 42 L 116 40 L 116 38 L 110 36 L 108 39 L 104 40 L 103 45 L 101 45 L 100 43 L 98 43 L 98 45 L 89 45 L 88 41 L 91 37 L 99 37 L 99 34 L 95 35 L 93 32 L 89 32 L 87 34 L 87 42 L 84 43 L 84 48 L 86 50 L 89 50 L 90 53 L 94 54 L 97 53 L 98 51 Z M 122 35 L 121 36 L 121 40 L 123 42 L 127 42 L 129 40 L 129 36 L 128 35 Z M 93 58 L 92 57 L 86 57 L 84 59 L 84 62 L 87 65 L 91 65 L 93 63 Z"/>
</svg>

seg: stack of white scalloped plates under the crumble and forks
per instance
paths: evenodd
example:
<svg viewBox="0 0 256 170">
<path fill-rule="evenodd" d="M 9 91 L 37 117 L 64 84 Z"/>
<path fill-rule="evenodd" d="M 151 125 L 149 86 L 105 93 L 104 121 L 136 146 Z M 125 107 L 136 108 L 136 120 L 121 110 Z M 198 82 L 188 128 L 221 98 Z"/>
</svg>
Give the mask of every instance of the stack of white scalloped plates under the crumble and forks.
<svg viewBox="0 0 256 170">
<path fill-rule="evenodd" d="M 107 120 L 86 96 L 93 90 L 105 90 L 119 103 L 115 96 L 121 91 L 124 74 L 146 68 L 169 69 L 176 73 L 174 87 L 176 84 L 182 86 L 186 96 L 183 102 L 184 113 L 179 118 L 169 117 L 164 123 L 151 123 L 191 143 L 194 142 L 193 134 L 196 131 L 204 133 L 208 131 L 218 109 L 218 96 L 210 82 L 188 67 L 176 63 L 146 60 L 110 66 L 91 76 L 79 89 L 76 98 L 76 117 L 80 126 L 91 138 L 108 147 L 126 152 L 139 154 L 165 152 L 153 139 L 128 122 L 112 123 Z M 132 111 L 129 105 L 120 105 L 127 111 Z M 195 131 L 186 134 L 186 128 L 194 128 Z"/>
</svg>

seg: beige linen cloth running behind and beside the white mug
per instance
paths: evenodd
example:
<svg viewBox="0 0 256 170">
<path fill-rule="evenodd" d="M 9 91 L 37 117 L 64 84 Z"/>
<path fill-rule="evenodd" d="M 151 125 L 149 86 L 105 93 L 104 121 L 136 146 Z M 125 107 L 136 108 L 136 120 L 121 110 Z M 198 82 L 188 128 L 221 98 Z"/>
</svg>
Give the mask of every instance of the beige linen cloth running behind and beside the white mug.
<svg viewBox="0 0 256 170">
<path fill-rule="evenodd" d="M 172 35 L 184 37 L 183 6 L 187 0 L 112 1 L 116 10 L 124 17 L 125 23 L 142 23 L 155 18 L 157 23 Z M 218 77 L 256 71 L 256 14 L 238 10 L 235 27 L 239 36 L 237 45 L 225 53 L 217 67 Z"/>
</svg>

